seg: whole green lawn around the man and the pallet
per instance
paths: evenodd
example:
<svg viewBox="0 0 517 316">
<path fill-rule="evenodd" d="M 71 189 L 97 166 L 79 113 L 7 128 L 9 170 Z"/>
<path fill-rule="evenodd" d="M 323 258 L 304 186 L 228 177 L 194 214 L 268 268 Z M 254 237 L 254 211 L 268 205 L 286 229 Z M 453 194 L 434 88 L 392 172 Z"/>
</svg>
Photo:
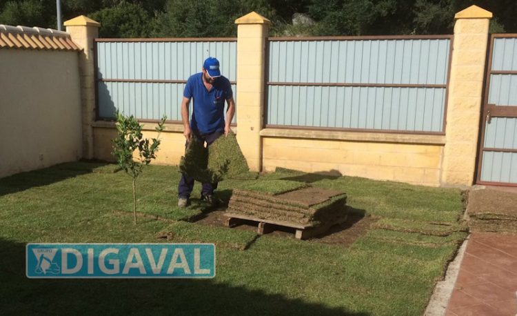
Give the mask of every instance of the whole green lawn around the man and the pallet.
<svg viewBox="0 0 517 316">
<path fill-rule="evenodd" d="M 207 211 L 199 184 L 179 210 L 170 166 L 138 179 L 138 210 L 153 216 L 134 226 L 131 180 L 116 170 L 78 162 L 0 179 L 1 314 L 422 315 L 467 234 L 459 190 L 291 170 L 223 181 L 219 197 L 283 179 L 343 190 L 352 212 L 380 220 L 349 247 L 203 226 L 189 222 Z M 197 241 L 216 244 L 214 279 L 25 276 L 27 242 Z"/>
</svg>

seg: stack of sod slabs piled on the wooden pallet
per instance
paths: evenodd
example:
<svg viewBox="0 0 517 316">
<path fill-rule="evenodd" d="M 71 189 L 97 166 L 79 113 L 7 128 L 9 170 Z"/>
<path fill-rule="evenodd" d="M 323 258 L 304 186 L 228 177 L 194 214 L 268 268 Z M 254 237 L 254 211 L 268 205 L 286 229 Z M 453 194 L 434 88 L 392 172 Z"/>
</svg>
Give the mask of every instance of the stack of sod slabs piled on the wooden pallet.
<svg viewBox="0 0 517 316">
<path fill-rule="evenodd" d="M 318 226 L 347 215 L 347 195 L 287 180 L 257 181 L 234 189 L 227 212 L 285 226 Z"/>
</svg>

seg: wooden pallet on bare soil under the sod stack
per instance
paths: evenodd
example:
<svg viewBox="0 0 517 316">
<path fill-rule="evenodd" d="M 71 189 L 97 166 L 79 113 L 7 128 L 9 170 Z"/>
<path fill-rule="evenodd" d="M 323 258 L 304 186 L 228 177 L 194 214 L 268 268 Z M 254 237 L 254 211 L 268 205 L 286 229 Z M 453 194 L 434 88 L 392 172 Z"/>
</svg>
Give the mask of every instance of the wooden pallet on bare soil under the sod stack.
<svg viewBox="0 0 517 316">
<path fill-rule="evenodd" d="M 225 219 L 225 226 L 227 227 L 234 227 L 243 224 L 243 221 L 255 221 L 259 223 L 259 228 L 257 228 L 257 233 L 259 235 L 264 235 L 271 233 L 275 226 L 283 226 L 287 228 L 294 228 L 296 230 L 296 233 L 294 233 L 294 237 L 296 239 L 308 239 L 310 237 L 314 237 L 316 235 L 320 235 L 322 233 L 325 233 L 329 228 L 336 224 L 342 224 L 347 220 L 347 215 L 344 215 L 343 217 L 339 217 L 338 219 L 335 219 L 334 221 L 329 221 L 325 224 L 321 224 L 318 226 L 313 225 L 301 225 L 301 224 L 295 224 L 287 221 L 273 221 L 268 219 L 259 219 L 257 217 L 251 217 L 248 215 L 243 214 L 236 214 L 236 213 L 225 213 L 224 216 Z"/>
</svg>

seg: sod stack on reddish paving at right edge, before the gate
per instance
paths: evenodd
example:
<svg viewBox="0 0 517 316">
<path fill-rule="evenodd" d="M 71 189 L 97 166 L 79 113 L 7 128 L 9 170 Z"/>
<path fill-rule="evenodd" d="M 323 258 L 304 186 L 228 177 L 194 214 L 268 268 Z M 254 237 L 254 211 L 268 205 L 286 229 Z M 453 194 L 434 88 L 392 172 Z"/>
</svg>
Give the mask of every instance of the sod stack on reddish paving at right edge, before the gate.
<svg viewBox="0 0 517 316">
<path fill-rule="evenodd" d="M 467 214 L 473 230 L 517 233 L 517 195 L 499 190 L 471 190 Z"/>
</svg>

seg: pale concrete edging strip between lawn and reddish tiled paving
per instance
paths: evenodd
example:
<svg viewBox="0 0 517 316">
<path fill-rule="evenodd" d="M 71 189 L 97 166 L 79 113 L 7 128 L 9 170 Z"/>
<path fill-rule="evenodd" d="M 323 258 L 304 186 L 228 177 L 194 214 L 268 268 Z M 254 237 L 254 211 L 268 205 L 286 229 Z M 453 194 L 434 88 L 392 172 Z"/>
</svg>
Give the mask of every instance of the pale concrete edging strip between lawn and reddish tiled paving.
<svg viewBox="0 0 517 316">
<path fill-rule="evenodd" d="M 451 298 L 452 291 L 454 290 L 454 284 L 456 284 L 456 279 L 460 272 L 461 261 L 463 260 L 463 255 L 465 255 L 465 249 L 467 249 L 469 238 L 470 235 L 465 239 L 465 241 L 463 241 L 463 244 L 458 249 L 456 258 L 454 258 L 447 267 L 447 272 L 445 273 L 443 281 L 436 283 L 433 295 L 429 300 L 429 304 L 427 304 L 427 308 L 425 308 L 425 316 L 445 315 L 445 310 L 447 310 L 449 299 Z"/>
</svg>

